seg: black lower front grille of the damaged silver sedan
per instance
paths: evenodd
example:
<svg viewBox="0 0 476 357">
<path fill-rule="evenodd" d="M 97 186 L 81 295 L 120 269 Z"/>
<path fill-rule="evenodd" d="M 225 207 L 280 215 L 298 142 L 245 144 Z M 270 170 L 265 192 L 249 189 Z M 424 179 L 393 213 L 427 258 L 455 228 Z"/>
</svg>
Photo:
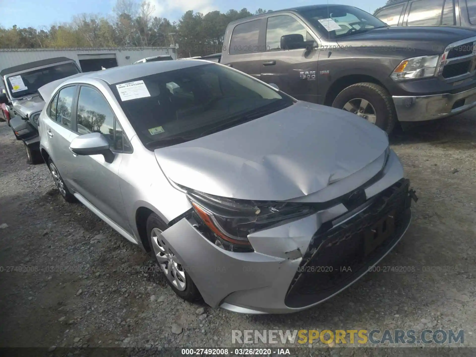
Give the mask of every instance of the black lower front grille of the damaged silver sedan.
<svg viewBox="0 0 476 357">
<path fill-rule="evenodd" d="M 288 288 L 286 305 L 304 307 L 321 301 L 345 288 L 375 264 L 407 227 L 408 186 L 409 181 L 402 179 L 353 218 L 326 231 L 319 229 Z M 395 219 L 394 234 L 366 253 L 366 234 L 389 214 Z"/>
</svg>

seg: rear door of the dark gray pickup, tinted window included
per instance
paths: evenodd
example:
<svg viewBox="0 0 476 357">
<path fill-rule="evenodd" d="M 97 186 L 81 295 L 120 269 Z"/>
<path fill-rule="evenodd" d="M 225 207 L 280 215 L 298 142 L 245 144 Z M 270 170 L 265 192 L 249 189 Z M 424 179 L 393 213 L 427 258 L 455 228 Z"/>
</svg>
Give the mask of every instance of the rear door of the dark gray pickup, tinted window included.
<svg viewBox="0 0 476 357">
<path fill-rule="evenodd" d="M 266 18 L 263 18 L 242 22 L 228 29 L 233 32 L 228 48 L 227 45 L 223 46 L 226 60 L 222 63 L 259 79 L 260 51 L 265 47 L 265 26 Z"/>
</svg>

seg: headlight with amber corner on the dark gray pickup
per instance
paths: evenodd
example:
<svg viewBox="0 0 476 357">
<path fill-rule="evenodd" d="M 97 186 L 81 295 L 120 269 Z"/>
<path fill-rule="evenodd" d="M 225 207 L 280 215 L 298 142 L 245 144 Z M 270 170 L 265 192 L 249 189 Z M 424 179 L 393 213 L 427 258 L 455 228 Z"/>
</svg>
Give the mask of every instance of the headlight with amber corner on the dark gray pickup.
<svg viewBox="0 0 476 357">
<path fill-rule="evenodd" d="M 407 80 L 433 77 L 440 55 L 422 56 L 403 60 L 390 77 L 393 80 Z"/>
</svg>

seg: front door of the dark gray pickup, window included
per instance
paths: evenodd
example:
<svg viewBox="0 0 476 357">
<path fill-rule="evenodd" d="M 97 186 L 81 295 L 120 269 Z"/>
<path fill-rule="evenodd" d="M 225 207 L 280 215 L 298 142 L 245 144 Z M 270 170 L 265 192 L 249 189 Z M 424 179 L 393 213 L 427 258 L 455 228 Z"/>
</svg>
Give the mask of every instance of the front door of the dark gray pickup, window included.
<svg viewBox="0 0 476 357">
<path fill-rule="evenodd" d="M 314 41 L 314 46 L 288 47 L 282 36 L 293 35 L 298 40 Z M 283 48 L 286 47 L 286 48 Z M 271 16 L 267 19 L 266 50 L 261 53 L 261 80 L 276 84 L 280 90 L 299 100 L 318 102 L 316 39 L 294 14 Z"/>
</svg>

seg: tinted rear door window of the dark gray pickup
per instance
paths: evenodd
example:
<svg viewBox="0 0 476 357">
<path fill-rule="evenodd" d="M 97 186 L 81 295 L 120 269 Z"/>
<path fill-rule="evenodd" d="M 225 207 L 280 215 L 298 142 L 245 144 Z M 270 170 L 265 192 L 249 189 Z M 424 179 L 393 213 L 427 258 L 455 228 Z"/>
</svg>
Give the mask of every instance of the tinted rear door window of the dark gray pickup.
<svg viewBox="0 0 476 357">
<path fill-rule="evenodd" d="M 261 20 L 241 23 L 233 29 L 230 40 L 230 55 L 258 51 L 258 36 Z"/>
</svg>

